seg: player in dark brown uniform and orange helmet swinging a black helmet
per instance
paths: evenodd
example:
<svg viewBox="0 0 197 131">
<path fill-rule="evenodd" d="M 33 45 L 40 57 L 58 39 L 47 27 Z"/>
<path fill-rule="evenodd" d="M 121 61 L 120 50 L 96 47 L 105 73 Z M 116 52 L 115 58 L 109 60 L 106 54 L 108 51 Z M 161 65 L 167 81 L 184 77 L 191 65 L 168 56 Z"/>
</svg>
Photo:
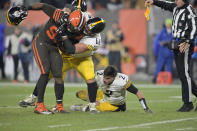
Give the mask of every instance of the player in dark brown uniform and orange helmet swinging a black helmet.
<svg viewBox="0 0 197 131">
<path fill-rule="evenodd" d="M 19 7 L 19 13 L 11 12 L 12 8 L 8 11 L 7 19 L 12 24 L 12 17 L 16 13 L 26 11 L 26 8 Z M 22 11 L 21 11 L 22 10 Z M 59 53 L 58 47 L 61 44 L 67 44 L 64 47 L 69 48 L 72 44 L 68 37 L 64 39 L 59 36 L 58 28 L 64 25 L 66 33 L 79 32 L 86 24 L 85 16 L 80 10 L 75 10 L 69 14 L 57 9 L 51 5 L 44 3 L 35 3 L 28 7 L 28 10 L 42 10 L 49 16 L 48 22 L 45 24 L 41 32 L 35 37 L 33 41 L 33 53 L 35 60 L 40 68 L 40 78 L 36 84 L 38 100 L 34 109 L 38 114 L 52 114 L 44 105 L 44 92 L 48 82 L 49 73 L 53 74 L 55 79 L 55 95 L 56 95 L 56 111 L 60 113 L 67 113 L 64 110 L 62 100 L 64 93 L 64 82 L 62 80 L 62 57 Z M 26 17 L 26 16 L 24 16 Z M 62 42 L 64 40 L 64 42 Z M 69 50 L 69 49 L 68 49 Z M 70 53 L 70 52 L 68 52 Z"/>
</svg>

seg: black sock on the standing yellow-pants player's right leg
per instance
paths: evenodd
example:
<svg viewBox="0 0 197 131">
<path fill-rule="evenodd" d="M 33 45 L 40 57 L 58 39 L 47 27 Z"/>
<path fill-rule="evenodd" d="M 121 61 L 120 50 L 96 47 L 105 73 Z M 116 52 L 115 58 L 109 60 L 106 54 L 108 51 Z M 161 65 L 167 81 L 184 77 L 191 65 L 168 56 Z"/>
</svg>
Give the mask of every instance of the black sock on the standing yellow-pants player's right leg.
<svg viewBox="0 0 197 131">
<path fill-rule="evenodd" d="M 97 83 L 93 82 L 93 83 L 87 83 L 88 86 L 88 96 L 89 96 L 89 100 L 90 102 L 96 102 L 96 94 L 97 94 Z"/>
</svg>

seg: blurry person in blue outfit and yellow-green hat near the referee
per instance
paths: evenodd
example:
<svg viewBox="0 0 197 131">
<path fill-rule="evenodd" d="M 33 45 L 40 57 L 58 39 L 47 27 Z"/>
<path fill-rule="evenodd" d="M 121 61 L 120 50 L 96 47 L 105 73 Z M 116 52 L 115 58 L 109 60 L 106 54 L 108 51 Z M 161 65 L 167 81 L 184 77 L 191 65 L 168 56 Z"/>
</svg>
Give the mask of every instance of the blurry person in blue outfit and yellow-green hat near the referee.
<svg viewBox="0 0 197 131">
<path fill-rule="evenodd" d="M 166 65 L 166 71 L 172 74 L 173 52 L 168 49 L 168 43 L 172 41 L 172 20 L 165 20 L 165 27 L 156 35 L 154 41 L 154 54 L 157 58 L 153 83 L 156 83 L 157 75 Z"/>
</svg>

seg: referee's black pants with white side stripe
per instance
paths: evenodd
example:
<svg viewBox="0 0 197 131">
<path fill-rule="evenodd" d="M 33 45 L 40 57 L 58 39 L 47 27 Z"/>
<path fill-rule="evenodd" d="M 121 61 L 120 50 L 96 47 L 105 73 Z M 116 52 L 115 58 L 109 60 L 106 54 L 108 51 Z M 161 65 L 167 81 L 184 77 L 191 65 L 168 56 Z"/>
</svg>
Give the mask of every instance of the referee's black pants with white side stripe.
<svg viewBox="0 0 197 131">
<path fill-rule="evenodd" d="M 194 44 L 191 44 L 185 53 L 174 50 L 176 68 L 182 85 L 182 100 L 185 104 L 192 102 L 192 93 L 197 97 L 197 86 L 191 78 L 191 55 L 193 51 Z"/>
</svg>

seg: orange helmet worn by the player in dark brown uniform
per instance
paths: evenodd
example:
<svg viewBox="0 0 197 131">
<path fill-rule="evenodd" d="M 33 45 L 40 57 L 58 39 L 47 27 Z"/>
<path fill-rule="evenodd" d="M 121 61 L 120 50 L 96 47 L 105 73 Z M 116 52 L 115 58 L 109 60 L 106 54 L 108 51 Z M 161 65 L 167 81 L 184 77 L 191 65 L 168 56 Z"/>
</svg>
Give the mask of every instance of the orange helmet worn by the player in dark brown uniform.
<svg viewBox="0 0 197 131">
<path fill-rule="evenodd" d="M 80 10 L 75 10 L 70 13 L 68 18 L 67 29 L 70 32 L 79 32 L 86 24 L 86 17 Z"/>
</svg>

